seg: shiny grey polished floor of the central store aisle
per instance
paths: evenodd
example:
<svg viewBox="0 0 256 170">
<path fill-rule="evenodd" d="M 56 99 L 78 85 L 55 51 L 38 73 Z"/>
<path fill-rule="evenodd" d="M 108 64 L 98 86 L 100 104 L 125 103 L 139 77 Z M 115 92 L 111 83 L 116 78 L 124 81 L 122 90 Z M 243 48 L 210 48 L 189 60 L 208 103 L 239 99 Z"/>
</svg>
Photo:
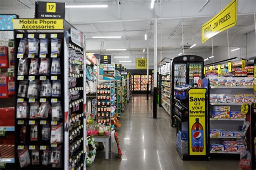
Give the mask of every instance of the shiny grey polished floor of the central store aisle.
<svg viewBox="0 0 256 170">
<path fill-rule="evenodd" d="M 87 169 L 238 169 L 238 160 L 182 161 L 176 151 L 176 129 L 171 128 L 170 117 L 158 108 L 158 119 L 153 119 L 152 103 L 146 95 L 133 95 L 121 115 L 122 127 L 117 130 L 122 159 L 117 157 L 113 143 L 112 158 L 105 160 L 105 152 L 98 151 L 95 162 Z"/>
</svg>

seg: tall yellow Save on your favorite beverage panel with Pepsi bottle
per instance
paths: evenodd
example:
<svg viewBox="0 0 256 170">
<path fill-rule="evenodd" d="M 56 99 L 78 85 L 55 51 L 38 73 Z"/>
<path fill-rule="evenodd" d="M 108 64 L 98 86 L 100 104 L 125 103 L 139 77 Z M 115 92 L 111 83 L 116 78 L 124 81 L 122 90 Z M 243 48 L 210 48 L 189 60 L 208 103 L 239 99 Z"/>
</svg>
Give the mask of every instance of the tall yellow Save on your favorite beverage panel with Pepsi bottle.
<svg viewBox="0 0 256 170">
<path fill-rule="evenodd" d="M 190 155 L 206 155 L 206 89 L 188 91 Z"/>
</svg>

